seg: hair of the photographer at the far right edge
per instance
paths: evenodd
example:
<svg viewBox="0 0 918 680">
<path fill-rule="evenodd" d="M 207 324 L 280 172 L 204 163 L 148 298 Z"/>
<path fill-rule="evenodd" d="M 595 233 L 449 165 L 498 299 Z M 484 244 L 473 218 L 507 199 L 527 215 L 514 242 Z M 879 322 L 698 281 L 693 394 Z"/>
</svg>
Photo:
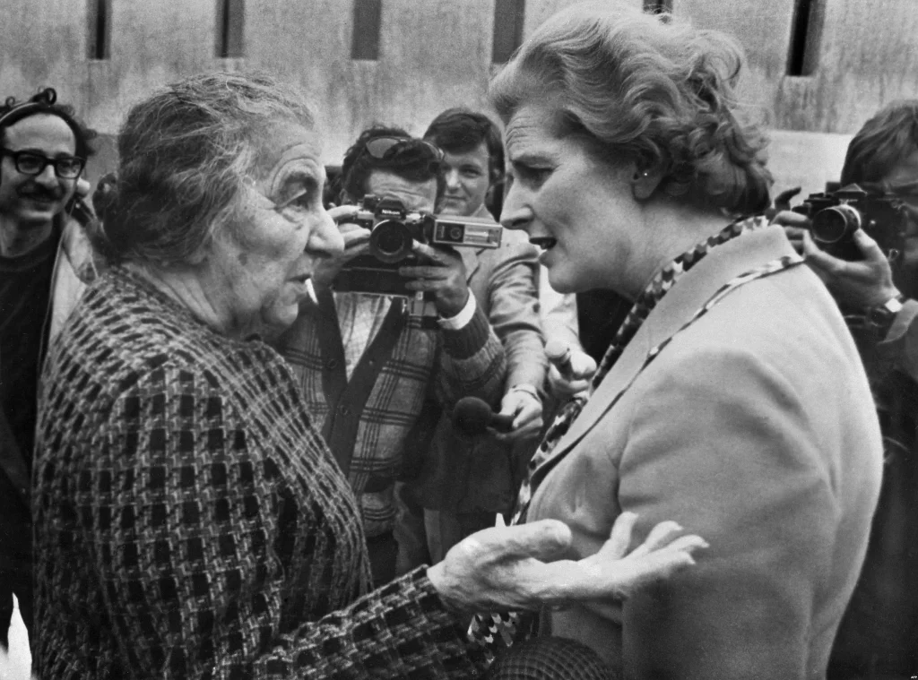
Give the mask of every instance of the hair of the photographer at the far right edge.
<svg viewBox="0 0 918 680">
<path fill-rule="evenodd" d="M 879 183 L 915 150 L 918 99 L 901 99 L 883 106 L 848 144 L 842 185 Z"/>
</svg>

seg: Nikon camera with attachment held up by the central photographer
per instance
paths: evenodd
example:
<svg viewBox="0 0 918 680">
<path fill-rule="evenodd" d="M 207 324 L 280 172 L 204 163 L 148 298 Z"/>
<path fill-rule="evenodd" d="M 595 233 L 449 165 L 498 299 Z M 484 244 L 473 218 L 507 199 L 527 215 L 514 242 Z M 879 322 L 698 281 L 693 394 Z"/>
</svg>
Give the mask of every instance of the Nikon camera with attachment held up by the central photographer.
<svg viewBox="0 0 918 680">
<path fill-rule="evenodd" d="M 418 263 L 415 241 L 464 248 L 499 248 L 503 229 L 487 219 L 446 217 L 409 212 L 397 198 L 366 195 L 348 222 L 369 229 L 369 255 L 359 255 L 341 268 L 331 287 L 340 292 L 403 295 L 408 279 L 398 269 Z"/>
</svg>

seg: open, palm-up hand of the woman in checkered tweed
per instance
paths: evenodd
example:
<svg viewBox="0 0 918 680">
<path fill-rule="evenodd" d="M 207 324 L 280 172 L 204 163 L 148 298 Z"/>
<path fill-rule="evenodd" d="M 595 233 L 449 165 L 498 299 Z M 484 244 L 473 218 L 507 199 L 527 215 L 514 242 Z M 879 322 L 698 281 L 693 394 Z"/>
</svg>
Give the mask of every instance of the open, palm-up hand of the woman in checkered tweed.
<svg viewBox="0 0 918 680">
<path fill-rule="evenodd" d="M 460 611 L 536 609 L 623 599 L 694 564 L 692 552 L 708 546 L 699 536 L 677 538 L 682 528 L 662 522 L 628 552 L 636 518 L 622 513 L 609 541 L 579 561 L 545 562 L 565 554 L 571 542 L 570 530 L 554 519 L 478 531 L 427 574 L 444 602 Z"/>
</svg>

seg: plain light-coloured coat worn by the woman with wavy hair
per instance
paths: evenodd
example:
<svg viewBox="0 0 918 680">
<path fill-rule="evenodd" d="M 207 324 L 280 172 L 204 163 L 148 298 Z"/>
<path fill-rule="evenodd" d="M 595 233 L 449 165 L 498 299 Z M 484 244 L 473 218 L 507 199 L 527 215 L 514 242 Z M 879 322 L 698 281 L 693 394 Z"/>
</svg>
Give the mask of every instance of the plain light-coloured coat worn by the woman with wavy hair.
<svg viewBox="0 0 918 680">
<path fill-rule="evenodd" d="M 674 519 L 711 547 L 623 604 L 545 613 L 626 678 L 822 678 L 868 545 L 879 425 L 855 344 L 805 266 L 744 284 L 651 348 L 733 277 L 792 254 L 778 228 L 711 253 L 661 300 L 558 442 L 529 518 L 577 559 L 622 511 L 633 545 Z M 549 462 L 551 462 L 550 459 Z"/>
</svg>

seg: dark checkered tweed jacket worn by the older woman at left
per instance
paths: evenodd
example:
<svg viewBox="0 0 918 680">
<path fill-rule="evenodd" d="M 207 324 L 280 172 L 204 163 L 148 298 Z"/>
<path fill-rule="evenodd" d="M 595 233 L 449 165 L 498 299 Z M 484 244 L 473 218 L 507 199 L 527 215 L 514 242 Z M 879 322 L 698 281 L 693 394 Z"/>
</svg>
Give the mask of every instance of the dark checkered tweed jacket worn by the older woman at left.
<svg viewBox="0 0 918 680">
<path fill-rule="evenodd" d="M 458 678 L 422 570 L 369 595 L 357 504 L 294 376 L 116 268 L 43 375 L 33 488 L 43 678 Z"/>
</svg>

